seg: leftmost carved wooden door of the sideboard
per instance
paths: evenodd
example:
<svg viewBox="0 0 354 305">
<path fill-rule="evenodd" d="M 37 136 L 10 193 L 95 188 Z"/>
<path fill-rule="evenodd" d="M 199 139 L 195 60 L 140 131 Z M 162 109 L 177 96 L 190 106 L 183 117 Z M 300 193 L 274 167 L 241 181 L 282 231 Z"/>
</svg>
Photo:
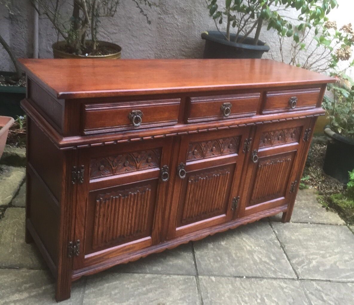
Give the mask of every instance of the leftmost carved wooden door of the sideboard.
<svg viewBox="0 0 354 305">
<path fill-rule="evenodd" d="M 160 242 L 171 148 L 169 138 L 79 151 L 74 269 Z"/>
</svg>

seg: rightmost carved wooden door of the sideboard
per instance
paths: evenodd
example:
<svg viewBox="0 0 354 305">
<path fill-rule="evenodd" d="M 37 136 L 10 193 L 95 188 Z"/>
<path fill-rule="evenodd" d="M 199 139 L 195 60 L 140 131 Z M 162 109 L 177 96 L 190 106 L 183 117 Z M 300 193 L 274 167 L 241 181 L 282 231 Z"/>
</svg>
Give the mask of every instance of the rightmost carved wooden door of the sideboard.
<svg viewBox="0 0 354 305">
<path fill-rule="evenodd" d="M 308 119 L 257 126 L 239 216 L 289 204 L 296 190 Z"/>
</svg>

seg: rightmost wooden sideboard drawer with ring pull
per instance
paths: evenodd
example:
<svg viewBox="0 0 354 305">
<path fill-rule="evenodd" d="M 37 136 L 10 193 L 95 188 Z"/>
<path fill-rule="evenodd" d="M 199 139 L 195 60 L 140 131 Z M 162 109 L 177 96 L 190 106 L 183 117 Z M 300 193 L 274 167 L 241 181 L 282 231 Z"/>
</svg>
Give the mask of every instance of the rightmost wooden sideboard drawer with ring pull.
<svg viewBox="0 0 354 305">
<path fill-rule="evenodd" d="M 268 91 L 265 93 L 262 113 L 315 108 L 320 97 L 320 91 L 320 88 Z"/>
</svg>

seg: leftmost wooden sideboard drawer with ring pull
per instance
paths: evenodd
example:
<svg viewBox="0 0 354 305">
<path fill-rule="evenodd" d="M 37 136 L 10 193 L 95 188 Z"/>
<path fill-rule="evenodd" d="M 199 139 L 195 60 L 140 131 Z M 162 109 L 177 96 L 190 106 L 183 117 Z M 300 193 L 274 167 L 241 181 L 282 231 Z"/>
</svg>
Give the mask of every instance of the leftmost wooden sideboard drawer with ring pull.
<svg viewBox="0 0 354 305">
<path fill-rule="evenodd" d="M 83 105 L 81 130 L 96 134 L 177 123 L 180 98 Z"/>
</svg>

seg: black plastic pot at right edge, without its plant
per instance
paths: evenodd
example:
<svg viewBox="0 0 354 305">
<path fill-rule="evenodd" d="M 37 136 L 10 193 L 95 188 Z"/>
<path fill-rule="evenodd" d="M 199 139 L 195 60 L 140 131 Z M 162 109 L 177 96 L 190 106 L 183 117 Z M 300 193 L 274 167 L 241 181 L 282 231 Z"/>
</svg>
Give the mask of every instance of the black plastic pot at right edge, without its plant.
<svg viewBox="0 0 354 305">
<path fill-rule="evenodd" d="M 337 134 L 329 126 L 326 126 L 325 134 L 330 139 L 327 143 L 323 170 L 327 175 L 348 183 L 348 171 L 354 169 L 354 139 Z"/>
</svg>

